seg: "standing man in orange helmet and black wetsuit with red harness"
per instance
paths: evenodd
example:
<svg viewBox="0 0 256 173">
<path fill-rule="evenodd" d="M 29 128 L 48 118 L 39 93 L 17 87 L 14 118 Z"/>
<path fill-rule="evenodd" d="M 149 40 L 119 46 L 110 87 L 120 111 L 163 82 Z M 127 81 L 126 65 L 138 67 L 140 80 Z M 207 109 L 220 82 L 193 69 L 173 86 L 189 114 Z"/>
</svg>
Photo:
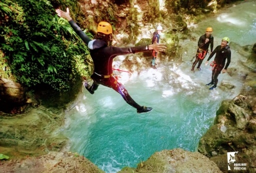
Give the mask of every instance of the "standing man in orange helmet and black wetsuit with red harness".
<svg viewBox="0 0 256 173">
<path fill-rule="evenodd" d="M 209 45 L 210 45 L 210 53 L 212 52 L 213 36 L 211 35 L 211 32 L 212 32 L 212 28 L 207 27 L 205 30 L 205 34 L 200 36 L 197 43 L 198 48 L 195 55 L 195 61 L 193 62 L 193 65 L 191 68 L 191 72 L 194 72 L 194 66 L 196 65 L 197 62 L 198 62 L 198 65 L 196 68 L 198 70 L 201 70 L 200 65 L 208 52 Z"/>
</svg>

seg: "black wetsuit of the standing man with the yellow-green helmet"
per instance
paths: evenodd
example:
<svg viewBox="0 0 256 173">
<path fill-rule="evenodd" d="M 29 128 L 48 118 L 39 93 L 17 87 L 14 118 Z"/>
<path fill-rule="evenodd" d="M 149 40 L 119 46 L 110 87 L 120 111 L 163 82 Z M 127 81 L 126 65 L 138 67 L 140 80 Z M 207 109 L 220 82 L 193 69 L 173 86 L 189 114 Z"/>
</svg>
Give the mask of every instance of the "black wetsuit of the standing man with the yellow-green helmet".
<svg viewBox="0 0 256 173">
<path fill-rule="evenodd" d="M 225 47 L 221 48 L 220 45 L 218 45 L 213 52 L 210 54 L 210 56 L 208 57 L 207 61 L 210 60 L 210 58 L 214 55 L 214 68 L 212 70 L 212 74 L 211 74 L 211 83 L 214 84 L 213 86 L 216 87 L 217 83 L 218 83 L 218 75 L 220 74 L 221 70 L 227 69 L 228 65 L 230 64 L 230 59 L 231 59 L 231 51 L 228 45 L 226 45 Z M 226 65 L 225 65 L 225 61 L 227 59 Z M 225 66 L 225 67 L 224 67 Z"/>
</svg>

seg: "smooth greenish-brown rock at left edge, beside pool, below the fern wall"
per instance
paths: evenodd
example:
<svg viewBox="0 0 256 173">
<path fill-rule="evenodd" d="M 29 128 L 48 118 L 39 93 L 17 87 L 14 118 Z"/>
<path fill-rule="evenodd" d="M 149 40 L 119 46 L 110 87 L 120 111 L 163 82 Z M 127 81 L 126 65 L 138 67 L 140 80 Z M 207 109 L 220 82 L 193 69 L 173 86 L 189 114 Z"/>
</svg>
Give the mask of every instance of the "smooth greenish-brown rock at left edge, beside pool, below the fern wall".
<svg viewBox="0 0 256 173">
<path fill-rule="evenodd" d="M 53 132 L 63 121 L 59 112 L 43 107 L 31 108 L 27 113 L 15 116 L 1 114 L 0 153 L 12 159 L 61 151 L 68 140 Z"/>
</svg>

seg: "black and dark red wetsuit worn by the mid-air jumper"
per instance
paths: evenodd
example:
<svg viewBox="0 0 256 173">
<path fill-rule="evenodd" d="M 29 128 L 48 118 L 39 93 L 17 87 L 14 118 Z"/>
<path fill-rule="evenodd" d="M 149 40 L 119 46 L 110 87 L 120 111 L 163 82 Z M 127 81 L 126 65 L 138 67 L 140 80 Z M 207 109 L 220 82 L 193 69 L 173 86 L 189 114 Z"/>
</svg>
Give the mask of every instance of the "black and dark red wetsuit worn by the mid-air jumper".
<svg viewBox="0 0 256 173">
<path fill-rule="evenodd" d="M 79 26 L 77 26 L 77 24 L 73 20 L 70 20 L 69 23 L 90 50 L 90 56 L 94 64 L 94 71 L 91 75 L 91 79 L 93 79 L 93 84 L 89 89 L 94 92 L 98 88 L 99 84 L 112 88 L 116 92 L 121 94 L 122 98 L 130 106 L 136 108 L 137 110 L 142 109 L 142 106 L 138 105 L 129 96 L 124 86 L 113 77 L 112 62 L 113 58 L 117 55 L 147 51 L 148 47 L 136 46 L 119 48 L 114 46 L 107 46 L 107 43 L 103 40 L 91 40 L 90 38 L 88 38 L 88 36 L 80 29 Z"/>
</svg>

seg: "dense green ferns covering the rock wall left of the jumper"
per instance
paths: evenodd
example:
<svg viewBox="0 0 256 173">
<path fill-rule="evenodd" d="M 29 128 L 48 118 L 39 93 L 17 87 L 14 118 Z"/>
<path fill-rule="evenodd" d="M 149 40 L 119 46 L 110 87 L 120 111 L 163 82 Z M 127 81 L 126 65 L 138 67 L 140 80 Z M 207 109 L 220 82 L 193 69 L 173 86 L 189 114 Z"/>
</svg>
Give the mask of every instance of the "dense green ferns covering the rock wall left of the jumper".
<svg viewBox="0 0 256 173">
<path fill-rule="evenodd" d="M 0 47 L 5 72 L 26 87 L 40 84 L 66 91 L 74 83 L 74 76 L 87 77 L 90 73 L 88 48 L 53 8 L 64 5 L 75 9 L 76 1 L 0 2 Z"/>
</svg>

